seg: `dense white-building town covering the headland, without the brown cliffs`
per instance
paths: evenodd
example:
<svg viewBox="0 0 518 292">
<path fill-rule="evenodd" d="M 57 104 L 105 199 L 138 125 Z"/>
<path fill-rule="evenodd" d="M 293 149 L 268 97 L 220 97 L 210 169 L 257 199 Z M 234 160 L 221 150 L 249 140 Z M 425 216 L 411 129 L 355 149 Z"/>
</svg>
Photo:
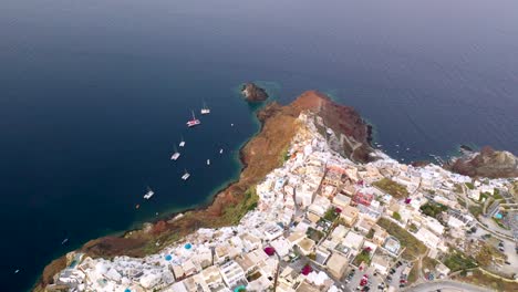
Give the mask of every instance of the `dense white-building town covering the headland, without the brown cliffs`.
<svg viewBox="0 0 518 292">
<path fill-rule="evenodd" d="M 510 179 L 473 180 L 381 152 L 356 164 L 330 148 L 339 137 L 319 116 L 298 123 L 282 166 L 247 191 L 257 207 L 239 225 L 199 229 L 142 259 L 70 253 L 48 290 L 397 291 L 477 267 L 516 277 Z"/>
</svg>

